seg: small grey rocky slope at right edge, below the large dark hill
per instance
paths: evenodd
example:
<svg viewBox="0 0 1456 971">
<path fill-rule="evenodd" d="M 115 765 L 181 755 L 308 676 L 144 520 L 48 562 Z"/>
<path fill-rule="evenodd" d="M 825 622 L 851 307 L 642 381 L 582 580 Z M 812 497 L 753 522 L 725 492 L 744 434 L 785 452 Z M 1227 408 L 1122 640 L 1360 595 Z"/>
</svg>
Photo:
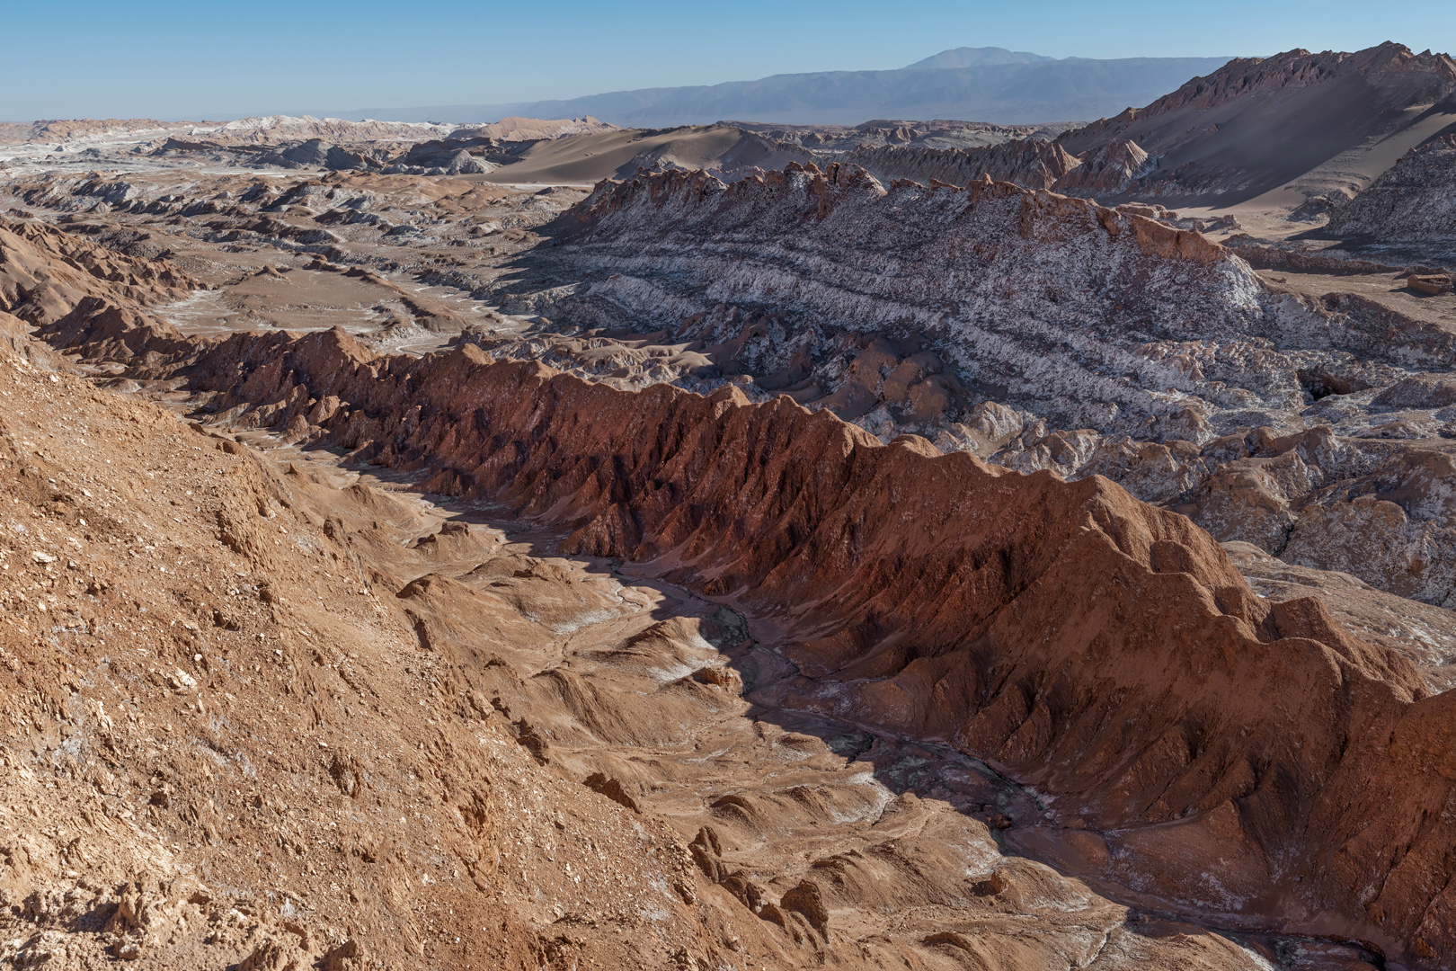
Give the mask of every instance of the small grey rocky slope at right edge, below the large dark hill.
<svg viewBox="0 0 1456 971">
<path fill-rule="evenodd" d="M 1379 242 L 1456 240 L 1456 134 L 1408 151 L 1326 229 Z"/>
</svg>

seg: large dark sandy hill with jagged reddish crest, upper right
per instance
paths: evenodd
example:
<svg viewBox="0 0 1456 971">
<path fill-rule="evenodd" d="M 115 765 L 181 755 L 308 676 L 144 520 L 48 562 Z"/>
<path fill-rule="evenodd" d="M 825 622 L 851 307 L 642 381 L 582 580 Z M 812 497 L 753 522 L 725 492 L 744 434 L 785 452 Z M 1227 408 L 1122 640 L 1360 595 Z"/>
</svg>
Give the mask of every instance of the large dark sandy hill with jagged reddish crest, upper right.
<svg viewBox="0 0 1456 971">
<path fill-rule="evenodd" d="M 1232 205 L 1284 186 L 1353 195 L 1456 124 L 1456 63 L 1382 44 L 1233 60 L 1146 108 L 1060 137 L 1076 156 L 1131 141 L 1149 162 L 1128 197 Z"/>
</svg>

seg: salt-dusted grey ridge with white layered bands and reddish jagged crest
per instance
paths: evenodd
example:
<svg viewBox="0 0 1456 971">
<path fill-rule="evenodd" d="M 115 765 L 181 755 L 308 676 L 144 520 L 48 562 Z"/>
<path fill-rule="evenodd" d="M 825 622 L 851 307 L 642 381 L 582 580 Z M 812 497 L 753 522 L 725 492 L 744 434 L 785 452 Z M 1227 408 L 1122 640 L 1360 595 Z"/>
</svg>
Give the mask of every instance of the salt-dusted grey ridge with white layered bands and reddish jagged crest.
<svg viewBox="0 0 1456 971">
<path fill-rule="evenodd" d="M 540 262 L 591 282 L 558 296 L 558 313 L 737 341 L 735 360 L 764 377 L 792 377 L 802 354 L 808 373 L 785 384 L 804 402 L 833 390 L 815 358 L 833 365 L 826 345 L 844 332 L 917 341 L 961 384 L 999 384 L 1006 403 L 1104 432 L 1191 409 L 1182 421 L 1213 434 L 1251 409 L 1300 408 L 1299 362 L 1369 367 L 1331 348 L 1344 330 L 1361 341 L 1357 322 L 1273 291 L 1198 233 L 1005 182 L 887 189 L 856 167 L 792 165 L 732 185 L 644 175 L 600 186 L 562 223 Z M 697 259 L 709 250 L 718 259 Z M 759 313 L 780 314 L 782 336 L 751 332 Z M 1032 333 L 1035 360 L 1018 349 Z M 1168 357 L 1198 339 L 1213 358 Z M 1274 361 L 1289 371 L 1270 373 Z M 962 413 L 952 395 L 926 400 L 926 418 Z M 911 425 L 917 413 L 901 415 Z"/>
</svg>

